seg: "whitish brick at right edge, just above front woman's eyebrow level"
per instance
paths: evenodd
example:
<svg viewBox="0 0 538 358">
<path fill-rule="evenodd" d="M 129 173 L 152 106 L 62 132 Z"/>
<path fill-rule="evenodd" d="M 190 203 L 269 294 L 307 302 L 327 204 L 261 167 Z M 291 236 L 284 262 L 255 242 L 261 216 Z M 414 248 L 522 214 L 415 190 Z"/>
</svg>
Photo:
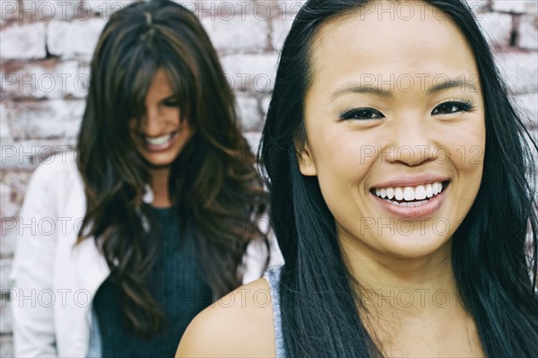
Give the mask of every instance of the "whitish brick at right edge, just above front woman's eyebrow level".
<svg viewBox="0 0 538 358">
<path fill-rule="evenodd" d="M 496 61 L 513 92 L 538 92 L 538 52 L 499 53 Z"/>
</svg>

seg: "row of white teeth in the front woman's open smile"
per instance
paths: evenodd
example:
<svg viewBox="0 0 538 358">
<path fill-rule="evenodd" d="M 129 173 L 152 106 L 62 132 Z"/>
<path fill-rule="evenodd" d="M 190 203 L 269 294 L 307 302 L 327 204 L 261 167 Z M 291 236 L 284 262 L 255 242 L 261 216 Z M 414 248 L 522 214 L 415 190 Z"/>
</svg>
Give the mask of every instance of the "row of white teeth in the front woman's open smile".
<svg viewBox="0 0 538 358">
<path fill-rule="evenodd" d="M 441 194 L 449 181 L 435 181 L 416 187 L 371 188 L 370 192 L 392 205 L 421 206 Z"/>
</svg>

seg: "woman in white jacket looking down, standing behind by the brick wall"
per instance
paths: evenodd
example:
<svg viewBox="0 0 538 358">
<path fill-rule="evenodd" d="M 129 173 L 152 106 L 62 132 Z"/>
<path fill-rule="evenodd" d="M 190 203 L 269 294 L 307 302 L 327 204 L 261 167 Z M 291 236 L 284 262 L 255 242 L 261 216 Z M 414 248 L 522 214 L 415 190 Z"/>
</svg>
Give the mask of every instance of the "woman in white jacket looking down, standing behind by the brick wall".
<svg viewBox="0 0 538 358">
<path fill-rule="evenodd" d="M 26 193 L 21 222 L 56 230 L 22 230 L 14 290 L 54 300 L 13 304 L 15 355 L 171 356 L 269 259 L 263 183 L 194 13 L 152 1 L 111 16 L 76 154 L 40 165 Z"/>
</svg>

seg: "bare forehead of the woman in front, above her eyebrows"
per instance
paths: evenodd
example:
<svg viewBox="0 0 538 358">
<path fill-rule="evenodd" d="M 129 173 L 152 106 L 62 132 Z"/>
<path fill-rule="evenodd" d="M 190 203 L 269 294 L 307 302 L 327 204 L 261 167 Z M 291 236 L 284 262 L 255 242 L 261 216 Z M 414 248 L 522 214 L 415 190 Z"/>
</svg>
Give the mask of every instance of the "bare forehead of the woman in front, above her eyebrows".
<svg viewBox="0 0 538 358">
<path fill-rule="evenodd" d="M 473 51 L 456 24 L 418 1 L 374 2 L 326 22 L 310 55 L 313 86 L 325 89 L 369 74 L 386 82 L 477 73 Z"/>
</svg>

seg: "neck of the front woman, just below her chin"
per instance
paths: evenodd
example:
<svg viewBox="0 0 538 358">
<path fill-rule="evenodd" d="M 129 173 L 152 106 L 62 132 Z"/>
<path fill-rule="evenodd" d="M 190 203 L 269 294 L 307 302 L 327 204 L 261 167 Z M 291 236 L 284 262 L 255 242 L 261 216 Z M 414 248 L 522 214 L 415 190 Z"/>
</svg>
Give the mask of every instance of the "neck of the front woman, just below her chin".
<svg viewBox="0 0 538 358">
<path fill-rule="evenodd" d="M 450 241 L 421 258 L 389 257 L 356 239 L 341 238 L 341 243 L 369 314 L 415 319 L 463 310 L 452 270 Z"/>
</svg>

